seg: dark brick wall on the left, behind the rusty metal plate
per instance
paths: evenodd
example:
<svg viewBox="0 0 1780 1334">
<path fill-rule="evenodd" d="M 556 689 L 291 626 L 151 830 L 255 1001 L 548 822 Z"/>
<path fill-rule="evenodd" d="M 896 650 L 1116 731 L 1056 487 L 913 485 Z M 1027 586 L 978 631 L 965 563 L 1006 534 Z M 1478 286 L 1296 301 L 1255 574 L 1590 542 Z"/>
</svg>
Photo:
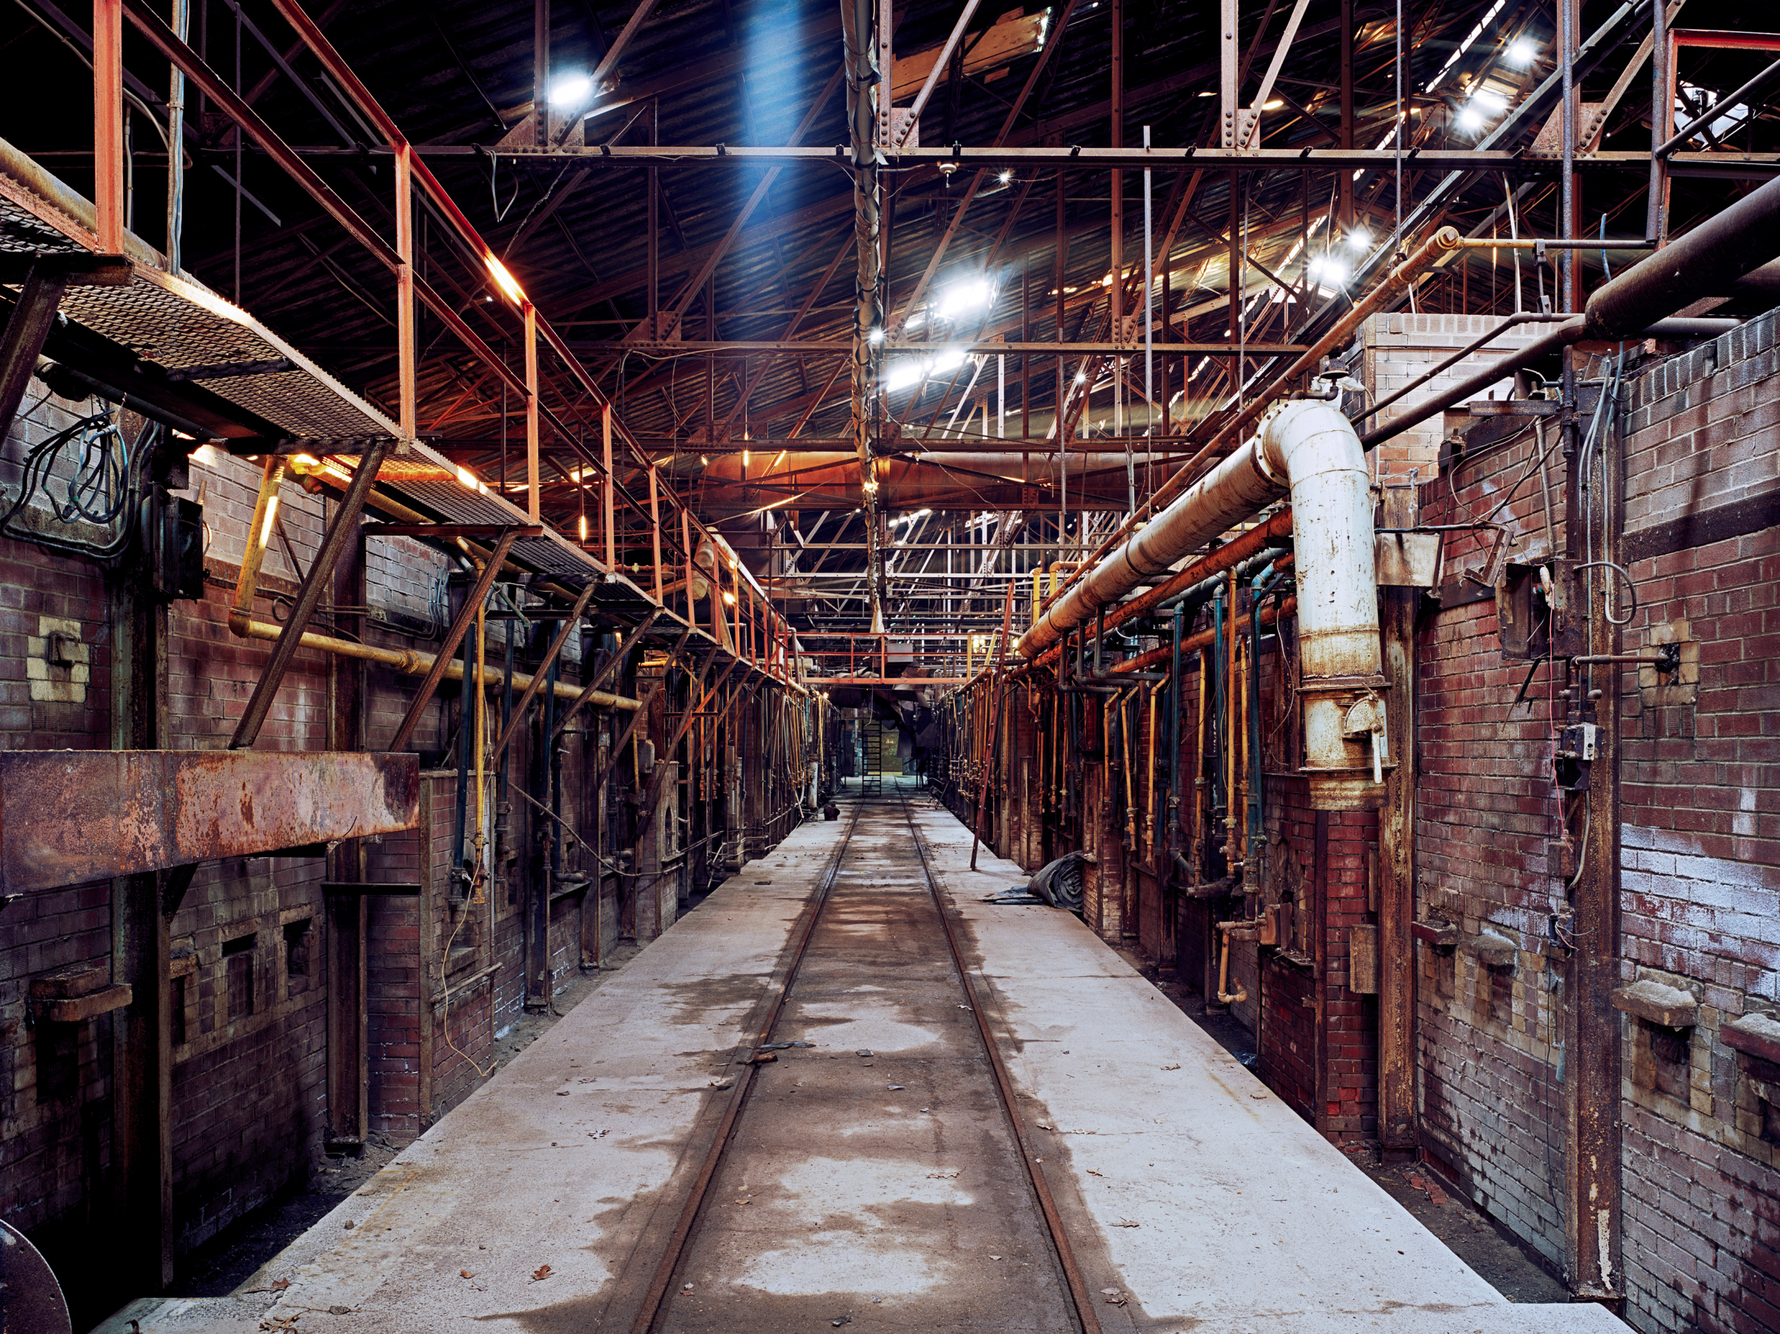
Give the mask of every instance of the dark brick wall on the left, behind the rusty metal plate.
<svg viewBox="0 0 1780 1334">
<path fill-rule="evenodd" d="M 16 493 L 25 450 L 85 411 L 57 398 L 30 404 L 0 450 L 0 484 Z M 203 599 L 171 607 L 166 743 L 173 749 L 226 745 L 271 651 L 267 642 L 235 639 L 226 623 L 258 477 L 258 464 L 212 448 L 192 461 L 185 494 L 205 505 L 206 589 Z M 287 484 L 281 519 L 308 567 L 324 525 L 322 500 Z M 427 617 L 441 566 L 406 539 L 368 546 L 368 603 L 388 621 L 365 639 L 413 644 L 390 626 Z M 290 594 L 295 578 L 283 542 L 274 541 L 262 587 Z M 272 619 L 265 599 L 258 617 Z M 50 631 L 78 635 L 77 655 L 85 662 L 46 665 Z M 107 749 L 109 644 L 100 566 L 0 539 L 0 745 Z M 370 672 L 372 745 L 395 726 L 411 690 L 411 679 Z M 324 747 L 326 708 L 328 660 L 299 651 L 260 747 Z M 441 743 L 443 708 L 434 704 L 422 724 L 420 747 Z M 322 875 L 320 859 L 212 863 L 171 925 L 180 1250 L 301 1181 L 319 1147 L 328 996 Z M 110 966 L 109 884 L 30 895 L 0 914 L 0 1211 L 52 1258 L 91 1240 L 110 1208 L 112 1021 L 101 1016 L 77 1028 L 30 1025 L 25 1016 L 28 980 L 73 964 Z"/>
</svg>

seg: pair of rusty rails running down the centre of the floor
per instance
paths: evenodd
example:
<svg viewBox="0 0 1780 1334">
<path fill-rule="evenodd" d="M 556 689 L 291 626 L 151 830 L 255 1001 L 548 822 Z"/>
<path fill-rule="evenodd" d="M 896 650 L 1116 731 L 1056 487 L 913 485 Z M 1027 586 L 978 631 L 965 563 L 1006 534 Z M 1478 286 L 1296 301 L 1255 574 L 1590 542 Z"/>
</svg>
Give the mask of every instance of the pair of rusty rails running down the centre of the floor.
<svg viewBox="0 0 1780 1334">
<path fill-rule="evenodd" d="M 901 827 L 885 820 L 885 816 L 892 815 L 899 816 L 897 824 Z M 872 834 L 879 836 L 878 847 L 867 850 L 865 854 L 856 848 L 856 834 L 860 832 L 862 824 L 865 824 Z M 892 825 L 888 838 L 883 836 L 886 832 L 883 825 L 886 824 Z M 1095 1313 L 1093 1298 L 1077 1266 L 1075 1249 L 1070 1243 L 1070 1236 L 1064 1229 L 1063 1218 L 1059 1217 L 1056 1201 L 1052 1199 L 1050 1185 L 1045 1179 L 1041 1149 L 1034 1144 L 1031 1129 L 1020 1115 L 1006 1060 L 1002 1058 L 1000 1048 L 995 1041 L 990 1017 L 984 1012 L 984 1003 L 977 996 L 972 984 L 970 969 L 965 966 L 958 923 L 954 921 L 954 914 L 947 905 L 945 896 L 940 893 L 938 882 L 933 875 L 933 859 L 926 840 L 922 838 L 920 827 L 915 822 L 915 813 L 901 790 L 897 790 L 894 797 L 886 795 L 876 800 L 862 797 L 853 802 L 846 831 L 837 841 L 835 852 L 821 873 L 821 880 L 808 907 L 792 928 L 789 966 L 785 966 L 774 978 L 774 984 L 771 984 L 773 991 L 767 996 L 767 1007 L 764 1019 L 760 1021 L 758 1037 L 751 1048 L 739 1048 L 737 1051 L 755 1053 L 776 1041 L 776 1030 L 785 1014 L 787 1001 L 797 991 L 805 960 L 810 957 L 812 941 L 819 936 L 831 912 L 837 884 L 844 873 L 878 873 L 881 877 L 886 868 L 879 866 L 874 872 L 849 872 L 849 863 L 869 857 L 885 857 L 885 847 L 888 847 L 888 870 L 895 875 L 904 875 L 904 882 L 918 882 L 931 896 L 933 912 L 938 918 L 942 928 L 940 934 L 945 941 L 943 955 L 934 952 L 934 957 L 949 960 L 951 976 L 959 996 L 958 1003 L 959 1007 L 970 1010 L 975 1042 L 981 1048 L 981 1057 L 991 1071 L 995 1105 L 1000 1110 L 1002 1124 L 993 1128 L 1000 1133 L 990 1133 L 983 1138 L 1007 1145 L 1011 1154 L 1018 1160 L 1018 1172 L 1009 1170 L 1006 1163 L 997 1163 L 993 1167 L 995 1170 L 1002 1170 L 1007 1179 L 1013 1179 L 1015 1176 L 1024 1177 L 1027 1202 L 1040 1224 L 1034 1231 L 1045 1238 L 1045 1245 L 1048 1245 L 1048 1266 L 1052 1266 L 1056 1277 L 1059 1279 L 1057 1286 L 1064 1290 L 1066 1300 L 1061 1302 L 1061 1306 L 1073 1316 L 1075 1329 L 1082 1334 L 1100 1334 L 1100 1322 Z M 862 905 L 869 907 L 869 888 L 860 888 L 849 904 L 853 905 L 853 911 L 858 911 Z M 951 1064 L 956 1065 L 956 1060 Z M 721 1122 L 710 1140 L 710 1147 L 692 1177 L 691 1190 L 682 1204 L 676 1224 L 662 1247 L 651 1281 L 643 1293 L 641 1306 L 637 1307 L 630 1325 L 632 1334 L 662 1334 L 664 1330 L 675 1330 L 680 1327 L 705 1329 L 707 1325 L 703 1322 L 710 1320 L 714 1314 L 710 1311 L 701 1311 L 698 1318 L 692 1318 L 691 1314 L 687 1318 L 676 1318 L 675 1304 L 678 1300 L 692 1300 L 691 1293 L 694 1286 L 685 1281 L 691 1272 L 691 1259 L 700 1249 L 705 1229 L 712 1226 L 714 1185 L 719 1177 L 723 1177 L 726 1169 L 737 1167 L 737 1163 L 732 1161 L 732 1156 L 737 1154 L 739 1131 L 749 1117 L 774 1115 L 774 1112 L 769 1106 L 762 1106 L 756 1097 L 762 1067 L 756 1064 L 742 1064 L 735 1069 L 740 1071 L 737 1074 L 735 1087 L 724 1105 Z M 922 1108 L 922 1112 L 926 1110 L 927 1108 Z M 746 1156 L 746 1149 L 742 1151 L 742 1156 Z M 991 1256 L 990 1259 L 1000 1259 L 1000 1256 Z M 835 1323 L 844 1323 L 844 1320 L 837 1318 Z M 732 1327 L 755 1329 L 755 1325 L 746 1323 L 746 1318 Z M 760 1325 L 760 1329 L 767 1327 L 773 1325 Z"/>
</svg>

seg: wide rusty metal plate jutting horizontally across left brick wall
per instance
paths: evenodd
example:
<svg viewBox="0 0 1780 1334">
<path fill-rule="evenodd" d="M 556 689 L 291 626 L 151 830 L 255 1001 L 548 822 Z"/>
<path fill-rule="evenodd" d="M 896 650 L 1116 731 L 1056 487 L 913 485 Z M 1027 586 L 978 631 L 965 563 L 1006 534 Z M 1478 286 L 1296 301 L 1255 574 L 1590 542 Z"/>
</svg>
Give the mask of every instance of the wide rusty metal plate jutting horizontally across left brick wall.
<svg viewBox="0 0 1780 1334">
<path fill-rule="evenodd" d="M 420 758 L 345 751 L 0 752 L 0 891 L 413 829 Z"/>
</svg>

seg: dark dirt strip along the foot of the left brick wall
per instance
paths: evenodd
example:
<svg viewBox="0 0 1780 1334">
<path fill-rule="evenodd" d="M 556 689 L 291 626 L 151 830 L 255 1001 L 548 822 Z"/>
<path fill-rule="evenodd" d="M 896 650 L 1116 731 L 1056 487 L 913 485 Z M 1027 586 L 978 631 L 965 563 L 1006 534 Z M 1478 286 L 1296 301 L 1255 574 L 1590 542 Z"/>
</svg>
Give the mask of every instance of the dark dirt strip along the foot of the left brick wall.
<svg viewBox="0 0 1780 1334">
<path fill-rule="evenodd" d="M 692 907 L 703 902 L 696 898 Z M 637 944 L 612 950 L 600 971 L 568 976 L 557 984 L 555 1009 L 527 1012 L 513 1019 L 507 1033 L 495 1042 L 490 1074 L 506 1065 L 584 998 L 600 989 L 612 973 L 637 955 Z M 295 1181 L 279 1197 L 237 1218 L 198 1250 L 180 1259 L 169 1291 L 182 1297 L 226 1297 L 240 1288 L 272 1256 L 295 1242 L 322 1215 L 365 1185 L 409 1144 L 408 1138 L 372 1131 L 358 1156 L 333 1156 L 320 1149 L 308 1165 L 306 1179 Z"/>
</svg>

